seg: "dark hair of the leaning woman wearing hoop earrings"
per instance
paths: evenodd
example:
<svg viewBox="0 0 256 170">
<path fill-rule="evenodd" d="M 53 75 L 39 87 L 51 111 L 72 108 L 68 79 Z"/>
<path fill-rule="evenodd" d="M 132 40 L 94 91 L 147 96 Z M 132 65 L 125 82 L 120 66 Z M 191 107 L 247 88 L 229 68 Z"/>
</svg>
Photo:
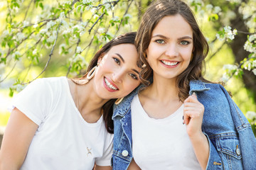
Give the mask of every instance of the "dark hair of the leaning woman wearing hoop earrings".
<svg viewBox="0 0 256 170">
<path fill-rule="evenodd" d="M 103 57 L 115 45 L 120 45 L 120 44 L 134 45 L 135 36 L 136 36 L 136 32 L 125 33 L 125 34 L 119 35 L 117 38 L 110 40 L 110 42 L 107 42 L 107 44 L 105 44 L 100 50 L 98 50 L 95 56 L 92 58 L 87 68 L 87 73 L 93 67 L 97 66 L 97 61 L 99 60 L 99 58 Z M 85 79 L 87 76 L 87 73 L 80 79 Z M 105 105 L 102 106 L 103 119 L 105 120 L 105 126 L 107 128 L 107 131 L 110 133 L 114 133 L 114 123 L 112 120 L 114 101 L 116 101 L 116 98 L 111 99 L 110 101 L 107 101 L 107 103 L 105 103 Z"/>
</svg>

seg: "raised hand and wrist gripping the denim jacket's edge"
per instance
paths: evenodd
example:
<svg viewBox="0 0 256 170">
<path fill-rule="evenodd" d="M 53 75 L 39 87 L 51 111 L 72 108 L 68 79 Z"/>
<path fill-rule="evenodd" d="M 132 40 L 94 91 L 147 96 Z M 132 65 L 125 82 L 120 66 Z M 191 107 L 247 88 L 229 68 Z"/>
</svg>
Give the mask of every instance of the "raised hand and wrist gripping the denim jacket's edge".
<svg viewBox="0 0 256 170">
<path fill-rule="evenodd" d="M 184 101 L 183 123 L 187 125 L 189 137 L 202 134 L 204 106 L 201 104 L 195 93 L 188 96 Z"/>
</svg>

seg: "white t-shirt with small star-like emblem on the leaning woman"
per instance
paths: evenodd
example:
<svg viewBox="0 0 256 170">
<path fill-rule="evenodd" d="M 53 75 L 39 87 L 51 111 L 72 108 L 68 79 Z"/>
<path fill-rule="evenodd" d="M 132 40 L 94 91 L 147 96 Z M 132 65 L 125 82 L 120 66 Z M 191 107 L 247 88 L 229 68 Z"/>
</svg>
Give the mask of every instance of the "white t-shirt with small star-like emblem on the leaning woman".
<svg viewBox="0 0 256 170">
<path fill-rule="evenodd" d="M 110 166 L 113 135 L 107 132 L 102 117 L 97 123 L 82 118 L 66 77 L 33 81 L 12 105 L 39 126 L 21 169 L 92 170 L 95 163 Z"/>
</svg>

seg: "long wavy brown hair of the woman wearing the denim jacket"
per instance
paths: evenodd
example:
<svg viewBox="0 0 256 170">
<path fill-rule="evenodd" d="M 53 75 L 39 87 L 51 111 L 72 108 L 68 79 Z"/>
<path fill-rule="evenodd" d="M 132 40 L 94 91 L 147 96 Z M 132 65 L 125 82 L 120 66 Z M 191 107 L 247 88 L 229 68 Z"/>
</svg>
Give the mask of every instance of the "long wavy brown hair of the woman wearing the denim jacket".
<svg viewBox="0 0 256 170">
<path fill-rule="evenodd" d="M 149 85 L 149 78 L 153 76 L 153 71 L 146 61 L 146 49 L 149 47 L 152 31 L 164 16 L 175 16 L 177 14 L 181 15 L 193 30 L 193 59 L 188 67 L 178 75 L 176 80 L 179 91 L 178 97 L 181 101 L 184 101 L 188 97 L 189 81 L 201 79 L 202 81 L 209 82 L 202 75 L 204 60 L 209 50 L 208 42 L 203 36 L 196 18 L 193 16 L 193 12 L 188 5 L 180 0 L 159 0 L 151 4 L 142 16 L 135 45 L 138 48 L 140 65 L 146 64 L 146 67 L 142 68 L 140 78 L 144 84 Z"/>
</svg>

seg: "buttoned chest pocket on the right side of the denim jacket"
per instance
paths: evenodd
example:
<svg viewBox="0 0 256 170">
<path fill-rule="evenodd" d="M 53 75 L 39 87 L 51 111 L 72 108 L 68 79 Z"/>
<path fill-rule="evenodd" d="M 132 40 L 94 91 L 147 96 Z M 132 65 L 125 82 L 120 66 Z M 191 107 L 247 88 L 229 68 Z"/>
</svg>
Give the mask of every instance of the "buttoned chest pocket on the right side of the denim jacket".
<svg viewBox="0 0 256 170">
<path fill-rule="evenodd" d="M 242 152 L 237 135 L 220 135 L 216 138 L 216 145 L 224 169 L 242 169 Z"/>
</svg>

